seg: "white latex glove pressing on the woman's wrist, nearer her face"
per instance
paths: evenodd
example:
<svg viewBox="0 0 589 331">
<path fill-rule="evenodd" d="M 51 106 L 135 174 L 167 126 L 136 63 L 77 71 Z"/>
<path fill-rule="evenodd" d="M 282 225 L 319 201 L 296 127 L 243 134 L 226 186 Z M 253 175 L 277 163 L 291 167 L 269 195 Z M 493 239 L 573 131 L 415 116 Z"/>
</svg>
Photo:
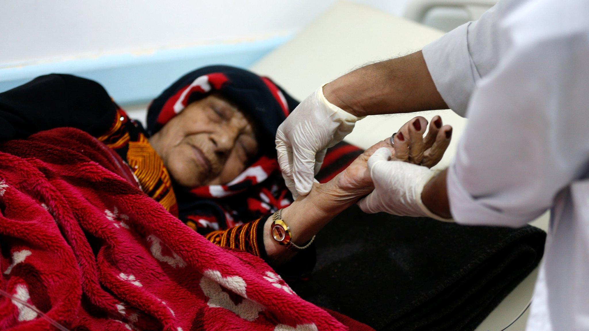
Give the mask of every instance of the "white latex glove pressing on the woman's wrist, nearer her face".
<svg viewBox="0 0 589 331">
<path fill-rule="evenodd" d="M 313 187 L 327 148 L 342 141 L 362 119 L 327 101 L 323 85 L 294 108 L 276 132 L 278 163 L 295 198 Z"/>
</svg>

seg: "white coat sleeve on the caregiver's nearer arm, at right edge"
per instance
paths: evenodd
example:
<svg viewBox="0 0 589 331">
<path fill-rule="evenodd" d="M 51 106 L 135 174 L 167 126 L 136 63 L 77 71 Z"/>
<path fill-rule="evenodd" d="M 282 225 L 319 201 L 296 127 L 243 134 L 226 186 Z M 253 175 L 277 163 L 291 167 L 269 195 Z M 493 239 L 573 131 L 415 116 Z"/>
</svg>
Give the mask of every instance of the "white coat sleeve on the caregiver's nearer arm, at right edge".
<svg viewBox="0 0 589 331">
<path fill-rule="evenodd" d="M 582 34 L 530 39 L 505 52 L 471 97 L 448 169 L 457 223 L 523 226 L 587 176 L 589 44 Z"/>
</svg>

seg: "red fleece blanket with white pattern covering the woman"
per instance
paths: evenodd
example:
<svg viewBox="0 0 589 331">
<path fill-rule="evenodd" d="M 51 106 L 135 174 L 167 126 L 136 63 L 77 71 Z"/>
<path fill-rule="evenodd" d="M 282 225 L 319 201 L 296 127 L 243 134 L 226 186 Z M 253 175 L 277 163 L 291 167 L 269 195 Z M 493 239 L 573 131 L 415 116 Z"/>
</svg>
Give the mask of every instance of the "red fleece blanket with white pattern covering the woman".
<svg viewBox="0 0 589 331">
<path fill-rule="evenodd" d="M 263 260 L 171 216 L 90 135 L 44 131 L 0 152 L 0 329 L 348 329 Z"/>
</svg>

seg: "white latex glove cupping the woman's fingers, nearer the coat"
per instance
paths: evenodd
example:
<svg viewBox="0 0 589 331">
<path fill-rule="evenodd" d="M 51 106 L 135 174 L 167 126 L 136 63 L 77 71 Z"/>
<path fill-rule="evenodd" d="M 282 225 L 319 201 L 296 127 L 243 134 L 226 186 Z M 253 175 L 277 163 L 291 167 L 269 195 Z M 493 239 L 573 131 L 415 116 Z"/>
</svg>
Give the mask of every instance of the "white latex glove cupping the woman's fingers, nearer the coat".
<svg viewBox="0 0 589 331">
<path fill-rule="evenodd" d="M 391 160 L 388 148 L 379 148 L 368 159 L 368 170 L 374 183 L 374 191 L 358 202 L 365 213 L 385 211 L 389 214 L 444 219 L 431 211 L 421 201 L 425 184 L 438 171 L 403 161 Z"/>
</svg>

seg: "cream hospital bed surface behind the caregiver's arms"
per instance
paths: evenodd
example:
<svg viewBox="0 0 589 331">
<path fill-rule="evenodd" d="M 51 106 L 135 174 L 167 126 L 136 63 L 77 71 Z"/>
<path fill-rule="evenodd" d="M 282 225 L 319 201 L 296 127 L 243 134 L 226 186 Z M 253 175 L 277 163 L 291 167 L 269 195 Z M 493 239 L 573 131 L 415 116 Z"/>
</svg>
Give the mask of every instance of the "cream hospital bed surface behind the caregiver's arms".
<svg viewBox="0 0 589 331">
<path fill-rule="evenodd" d="M 251 68 L 268 75 L 294 97 L 302 100 L 317 86 L 372 61 L 409 54 L 440 37 L 443 32 L 351 2 L 339 2 L 296 37 L 261 59 Z M 446 167 L 456 152 L 466 120 L 451 110 L 427 111 L 430 120 L 442 116 L 454 127 L 453 139 L 441 163 Z M 370 116 L 356 124 L 346 141 L 363 148 L 390 137 L 416 114 Z M 532 225 L 547 230 L 548 215 Z M 521 331 L 537 270 L 509 294 L 477 328 L 477 331 Z"/>
</svg>

